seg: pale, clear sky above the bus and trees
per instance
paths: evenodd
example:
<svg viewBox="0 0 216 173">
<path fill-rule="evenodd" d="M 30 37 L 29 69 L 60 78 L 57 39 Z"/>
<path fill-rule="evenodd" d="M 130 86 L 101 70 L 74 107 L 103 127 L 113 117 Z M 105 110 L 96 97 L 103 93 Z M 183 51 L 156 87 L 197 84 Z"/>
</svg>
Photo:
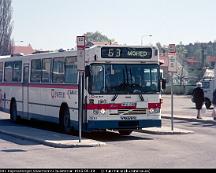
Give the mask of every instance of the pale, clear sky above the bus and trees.
<svg viewBox="0 0 216 173">
<path fill-rule="evenodd" d="M 215 0 L 12 0 L 12 38 L 43 50 L 74 48 L 76 36 L 96 31 L 127 45 L 209 42 L 215 7 Z"/>
</svg>

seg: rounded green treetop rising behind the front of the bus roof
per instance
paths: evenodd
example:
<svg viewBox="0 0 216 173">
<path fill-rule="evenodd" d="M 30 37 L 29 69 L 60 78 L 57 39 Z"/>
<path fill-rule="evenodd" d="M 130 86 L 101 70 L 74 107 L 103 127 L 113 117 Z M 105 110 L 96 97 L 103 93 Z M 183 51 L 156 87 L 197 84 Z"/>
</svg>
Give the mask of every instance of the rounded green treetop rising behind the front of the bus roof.
<svg viewBox="0 0 216 173">
<path fill-rule="evenodd" d="M 109 39 L 106 35 L 102 35 L 99 31 L 87 32 L 84 34 L 87 42 L 114 42 L 114 39 Z"/>
</svg>

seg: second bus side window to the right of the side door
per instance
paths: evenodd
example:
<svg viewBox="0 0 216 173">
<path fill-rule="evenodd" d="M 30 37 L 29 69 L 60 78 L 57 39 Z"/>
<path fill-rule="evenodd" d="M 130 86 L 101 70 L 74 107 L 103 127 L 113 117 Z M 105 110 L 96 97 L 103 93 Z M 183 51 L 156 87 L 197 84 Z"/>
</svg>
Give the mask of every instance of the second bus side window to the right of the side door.
<svg viewBox="0 0 216 173">
<path fill-rule="evenodd" d="M 47 58 L 42 60 L 42 82 L 50 83 L 51 82 L 51 64 L 52 59 Z"/>
</svg>

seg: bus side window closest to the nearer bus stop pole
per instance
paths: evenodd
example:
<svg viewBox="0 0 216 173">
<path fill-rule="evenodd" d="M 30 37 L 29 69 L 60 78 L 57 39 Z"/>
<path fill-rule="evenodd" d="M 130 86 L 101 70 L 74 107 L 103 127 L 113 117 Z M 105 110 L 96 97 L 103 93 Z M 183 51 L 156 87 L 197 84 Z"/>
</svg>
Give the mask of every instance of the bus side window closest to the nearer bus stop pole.
<svg viewBox="0 0 216 173">
<path fill-rule="evenodd" d="M 76 57 L 67 57 L 65 62 L 65 83 L 77 83 Z"/>
</svg>

